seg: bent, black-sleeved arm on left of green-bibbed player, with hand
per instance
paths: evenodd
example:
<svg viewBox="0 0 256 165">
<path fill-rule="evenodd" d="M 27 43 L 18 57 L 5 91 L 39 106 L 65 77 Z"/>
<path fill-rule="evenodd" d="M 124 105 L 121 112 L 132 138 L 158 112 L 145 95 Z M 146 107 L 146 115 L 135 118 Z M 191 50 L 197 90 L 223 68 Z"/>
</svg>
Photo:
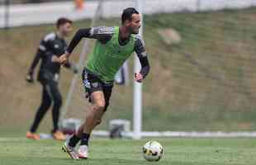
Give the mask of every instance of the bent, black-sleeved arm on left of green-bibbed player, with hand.
<svg viewBox="0 0 256 165">
<path fill-rule="evenodd" d="M 114 27 L 105 26 L 79 29 L 73 36 L 73 39 L 70 41 L 68 49 L 66 50 L 65 54 L 59 57 L 59 63 L 67 63 L 70 54 L 73 52 L 73 49 L 78 45 L 80 40 L 82 40 L 83 38 L 97 39 L 103 44 L 106 44 L 108 40 L 111 40 L 111 36 L 113 35 L 114 31 Z"/>
</svg>

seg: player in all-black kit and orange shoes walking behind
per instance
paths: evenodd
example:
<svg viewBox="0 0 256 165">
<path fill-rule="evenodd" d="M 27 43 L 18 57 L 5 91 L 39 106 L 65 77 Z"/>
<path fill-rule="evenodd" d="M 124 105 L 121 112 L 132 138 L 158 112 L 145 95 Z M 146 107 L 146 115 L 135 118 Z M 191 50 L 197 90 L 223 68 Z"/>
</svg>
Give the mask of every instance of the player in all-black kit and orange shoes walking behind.
<svg viewBox="0 0 256 165">
<path fill-rule="evenodd" d="M 34 70 L 41 60 L 37 79 L 43 87 L 42 100 L 37 109 L 31 129 L 26 132 L 26 137 L 29 139 L 40 139 L 39 134 L 36 134 L 36 130 L 40 124 L 40 120 L 43 119 L 45 112 L 49 110 L 52 103 L 52 117 L 54 125 L 52 135 L 58 140 L 65 139 L 64 134 L 58 127 L 59 109 L 62 104 L 62 97 L 58 87 L 60 70 L 59 56 L 64 54 L 67 50 L 67 44 L 64 38 L 69 35 L 70 31 L 72 31 L 72 21 L 67 18 L 59 18 L 56 22 L 56 27 L 56 32 L 45 35 L 45 37 L 40 40 L 40 45 L 36 52 L 35 59 L 33 60 L 29 72 L 26 75 L 27 82 L 34 82 Z M 73 64 L 66 63 L 64 66 L 72 69 L 74 73 L 78 72 L 78 68 Z"/>
</svg>

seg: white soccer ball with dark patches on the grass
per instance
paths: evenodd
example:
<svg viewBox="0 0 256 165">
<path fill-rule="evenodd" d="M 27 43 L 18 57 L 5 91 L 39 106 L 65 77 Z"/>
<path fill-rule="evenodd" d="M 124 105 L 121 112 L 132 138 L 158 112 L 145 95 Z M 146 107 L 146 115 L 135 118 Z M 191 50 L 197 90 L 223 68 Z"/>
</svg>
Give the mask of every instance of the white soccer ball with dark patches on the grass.
<svg viewBox="0 0 256 165">
<path fill-rule="evenodd" d="M 143 156 L 147 161 L 156 162 L 162 158 L 164 148 L 159 142 L 149 141 L 142 148 Z"/>
</svg>

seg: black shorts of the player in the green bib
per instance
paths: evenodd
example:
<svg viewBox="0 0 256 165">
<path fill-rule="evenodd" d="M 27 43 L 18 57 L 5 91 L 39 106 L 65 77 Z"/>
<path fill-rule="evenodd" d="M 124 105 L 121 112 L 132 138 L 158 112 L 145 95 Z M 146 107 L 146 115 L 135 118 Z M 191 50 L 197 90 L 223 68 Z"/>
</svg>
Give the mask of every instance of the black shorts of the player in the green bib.
<svg viewBox="0 0 256 165">
<path fill-rule="evenodd" d="M 86 97 L 88 97 L 91 102 L 92 92 L 102 91 L 104 93 L 106 110 L 109 105 L 109 100 L 111 97 L 111 92 L 113 88 L 113 82 L 102 82 L 102 80 L 96 75 L 84 68 L 82 73 L 83 87 L 85 88 Z"/>
</svg>

